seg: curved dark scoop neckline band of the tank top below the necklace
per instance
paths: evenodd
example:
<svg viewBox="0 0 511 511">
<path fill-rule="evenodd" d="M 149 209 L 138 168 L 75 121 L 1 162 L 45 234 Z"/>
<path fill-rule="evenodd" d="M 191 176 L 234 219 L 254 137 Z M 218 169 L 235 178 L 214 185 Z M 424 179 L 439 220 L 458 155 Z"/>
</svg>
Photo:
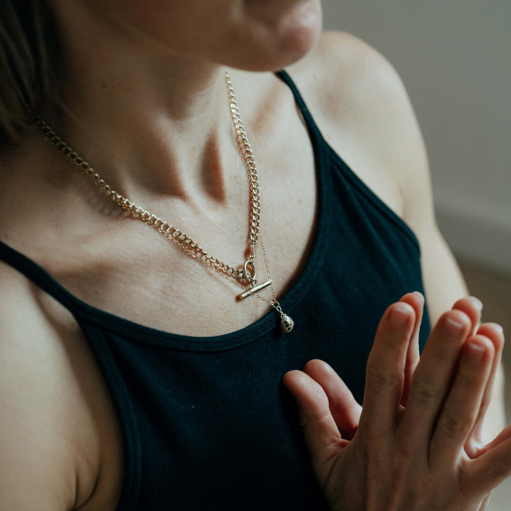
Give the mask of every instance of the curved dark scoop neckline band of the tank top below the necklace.
<svg viewBox="0 0 511 511">
<path fill-rule="evenodd" d="M 290 77 L 283 71 L 276 72 L 275 74 L 283 79 L 283 81 L 286 83 L 286 77 L 287 79 L 291 80 Z M 286 77 L 283 77 L 283 75 Z M 303 298 L 303 296 L 310 288 L 314 277 L 320 271 L 324 261 L 324 255 L 328 245 L 328 237 L 330 232 L 328 224 L 330 223 L 331 207 L 329 194 L 327 193 L 329 187 L 328 183 L 326 183 L 328 174 L 324 168 L 327 158 L 326 154 L 324 153 L 323 137 L 315 125 L 309 111 L 304 108 L 305 104 L 299 97 L 299 92 L 296 89 L 295 92 L 289 83 L 287 83 L 287 85 L 289 85 L 289 88 L 291 89 L 291 92 L 294 96 L 294 100 L 300 107 L 300 110 L 304 116 L 309 140 L 312 144 L 314 154 L 314 168 L 317 178 L 318 201 L 316 225 L 314 229 L 314 242 L 310 249 L 308 259 L 303 270 L 296 278 L 294 284 L 279 300 L 282 309 L 286 311 L 286 313 L 288 313 L 291 317 L 293 317 L 293 309 L 295 305 L 301 298 Z M 297 117 L 301 122 L 298 115 Z M 35 284 L 39 285 L 43 291 L 52 295 L 64 307 L 71 311 L 80 326 L 82 326 L 83 323 L 92 323 L 96 326 L 102 327 L 105 330 L 109 330 L 110 332 L 123 335 L 130 340 L 172 347 L 179 350 L 223 351 L 252 342 L 257 338 L 269 334 L 272 330 L 274 330 L 274 334 L 277 336 L 293 336 L 296 335 L 295 332 L 299 331 L 300 328 L 299 322 L 296 322 L 296 331 L 293 331 L 290 334 L 282 333 L 277 312 L 272 308 L 262 317 L 253 323 L 248 324 L 246 327 L 216 336 L 182 335 L 155 329 L 153 327 L 148 327 L 143 324 L 136 323 L 130 319 L 123 318 L 116 314 L 112 314 L 89 305 L 85 301 L 69 292 L 66 288 L 59 284 L 46 270 L 27 258 L 25 255 L 17 252 L 14 248 L 9 247 L 2 241 L 0 241 L 0 245 L 3 245 L 8 251 L 12 251 L 11 257 L 8 258 L 11 260 L 11 263 L 16 263 L 15 266 L 18 269 L 23 268 L 22 273 L 25 273 L 26 276 L 31 278 Z"/>
</svg>

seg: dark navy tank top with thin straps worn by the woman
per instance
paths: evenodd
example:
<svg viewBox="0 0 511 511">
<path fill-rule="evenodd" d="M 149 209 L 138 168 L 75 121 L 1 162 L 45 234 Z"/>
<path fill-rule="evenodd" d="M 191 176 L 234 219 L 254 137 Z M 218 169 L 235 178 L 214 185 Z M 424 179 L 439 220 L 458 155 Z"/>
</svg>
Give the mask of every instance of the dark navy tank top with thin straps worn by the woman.
<svg viewBox="0 0 511 511">
<path fill-rule="evenodd" d="M 117 511 L 327 509 L 282 376 L 325 360 L 361 403 L 383 312 L 424 293 L 412 230 L 324 141 L 289 75 L 276 76 L 307 124 L 319 189 L 314 245 L 280 300 L 291 333 L 273 309 L 214 337 L 144 327 L 85 304 L 0 242 L 0 260 L 71 311 L 102 370 L 124 444 Z M 429 332 L 426 307 L 421 350 Z"/>
</svg>

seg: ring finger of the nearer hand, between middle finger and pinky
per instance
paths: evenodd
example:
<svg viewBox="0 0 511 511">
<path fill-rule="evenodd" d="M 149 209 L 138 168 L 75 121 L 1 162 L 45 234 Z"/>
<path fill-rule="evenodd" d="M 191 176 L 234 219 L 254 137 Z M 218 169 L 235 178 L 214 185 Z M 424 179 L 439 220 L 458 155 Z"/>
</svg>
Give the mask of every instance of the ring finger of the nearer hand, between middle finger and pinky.
<svg viewBox="0 0 511 511">
<path fill-rule="evenodd" d="M 431 470 L 450 470 L 452 460 L 461 456 L 479 412 L 493 357 L 493 343 L 487 337 L 475 335 L 464 344 L 454 383 L 431 439 Z"/>
</svg>

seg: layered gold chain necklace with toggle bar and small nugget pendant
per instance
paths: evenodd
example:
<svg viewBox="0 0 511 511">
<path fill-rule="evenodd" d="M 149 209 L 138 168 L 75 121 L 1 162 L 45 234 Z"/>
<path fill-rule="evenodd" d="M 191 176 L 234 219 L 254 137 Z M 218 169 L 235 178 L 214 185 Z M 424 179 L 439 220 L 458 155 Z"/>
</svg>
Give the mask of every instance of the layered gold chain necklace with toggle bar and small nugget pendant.
<svg viewBox="0 0 511 511">
<path fill-rule="evenodd" d="M 124 210 L 126 210 L 131 216 L 137 218 L 138 220 L 142 220 L 147 223 L 154 229 L 156 229 L 159 233 L 164 235 L 165 237 L 172 240 L 176 243 L 179 248 L 181 248 L 185 253 L 190 255 L 196 261 L 202 263 L 207 268 L 218 273 L 220 276 L 233 283 L 235 286 L 243 289 L 243 293 L 238 295 L 238 299 L 245 299 L 248 296 L 257 296 L 261 300 L 265 301 L 267 304 L 270 304 L 281 317 L 281 329 L 283 332 L 291 332 L 294 326 L 294 321 L 290 316 L 285 314 L 282 311 L 281 305 L 277 301 L 277 297 L 275 294 L 275 290 L 273 288 L 273 281 L 271 278 L 270 266 L 268 264 L 268 258 L 266 255 L 266 250 L 264 248 L 263 242 L 263 233 L 261 231 L 260 225 L 260 200 L 259 200 L 259 182 L 257 169 L 255 168 L 255 160 L 253 158 L 252 150 L 250 149 L 250 144 L 248 143 L 248 138 L 243 129 L 243 124 L 241 122 L 240 112 L 238 110 L 236 96 L 234 94 L 233 83 L 230 81 L 229 75 L 227 71 L 225 71 L 225 84 L 227 86 L 227 92 L 229 95 L 229 106 L 231 110 L 231 117 L 233 118 L 234 127 L 236 130 L 238 146 L 241 150 L 243 159 L 245 160 L 245 168 L 248 175 L 248 181 L 250 185 L 250 195 L 252 200 L 252 213 L 251 213 L 251 229 L 250 229 L 250 256 L 243 264 L 243 268 L 236 269 L 232 266 L 229 266 L 219 259 L 213 257 L 213 255 L 207 253 L 204 249 L 202 249 L 196 242 L 194 242 L 189 236 L 183 233 L 180 229 L 177 229 L 173 225 L 169 224 L 165 220 L 157 217 L 146 211 L 143 207 L 137 206 L 131 200 L 123 197 L 120 193 L 115 192 L 112 188 L 105 183 L 103 179 L 101 179 L 100 175 L 92 169 L 89 164 L 70 146 L 68 146 L 60 136 L 58 136 L 55 131 L 46 124 L 40 117 L 34 116 L 33 123 L 39 129 L 41 134 L 44 137 L 44 140 L 51 144 L 55 149 L 57 149 L 60 154 L 75 168 L 77 168 L 82 174 L 84 174 L 93 184 L 99 187 L 105 194 L 110 197 L 113 201 L 119 204 Z M 255 278 L 255 266 L 254 266 L 254 246 L 257 243 L 258 237 L 261 237 L 261 248 L 263 249 L 264 262 L 266 265 L 266 270 L 268 272 L 268 281 L 263 284 L 257 285 L 257 280 Z M 242 286 L 240 283 L 236 282 L 234 278 L 238 278 L 240 280 L 244 280 L 251 287 L 249 289 Z M 265 287 L 271 287 L 271 293 L 273 295 L 273 300 L 268 300 L 261 296 L 258 291 L 264 289 Z"/>
</svg>

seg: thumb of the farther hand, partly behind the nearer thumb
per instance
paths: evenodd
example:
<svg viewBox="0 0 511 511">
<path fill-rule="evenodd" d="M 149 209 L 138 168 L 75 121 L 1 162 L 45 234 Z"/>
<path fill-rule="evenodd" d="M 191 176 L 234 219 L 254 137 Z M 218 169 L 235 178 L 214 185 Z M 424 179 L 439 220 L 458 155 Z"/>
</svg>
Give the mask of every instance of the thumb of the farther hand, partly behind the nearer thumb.
<svg viewBox="0 0 511 511">
<path fill-rule="evenodd" d="M 362 407 L 355 401 L 350 389 L 334 369 L 322 360 L 307 362 L 304 373 L 321 385 L 342 438 L 351 440 L 358 430 Z"/>
</svg>

